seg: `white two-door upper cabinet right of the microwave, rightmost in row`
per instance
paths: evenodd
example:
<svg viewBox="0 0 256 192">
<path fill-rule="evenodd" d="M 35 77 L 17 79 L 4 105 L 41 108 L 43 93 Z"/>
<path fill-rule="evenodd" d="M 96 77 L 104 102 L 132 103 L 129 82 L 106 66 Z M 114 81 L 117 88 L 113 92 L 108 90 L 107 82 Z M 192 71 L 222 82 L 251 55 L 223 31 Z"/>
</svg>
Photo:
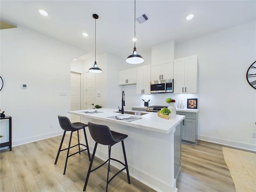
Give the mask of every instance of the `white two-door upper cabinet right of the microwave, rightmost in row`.
<svg viewBox="0 0 256 192">
<path fill-rule="evenodd" d="M 197 92 L 197 56 L 174 60 L 174 93 Z"/>
</svg>

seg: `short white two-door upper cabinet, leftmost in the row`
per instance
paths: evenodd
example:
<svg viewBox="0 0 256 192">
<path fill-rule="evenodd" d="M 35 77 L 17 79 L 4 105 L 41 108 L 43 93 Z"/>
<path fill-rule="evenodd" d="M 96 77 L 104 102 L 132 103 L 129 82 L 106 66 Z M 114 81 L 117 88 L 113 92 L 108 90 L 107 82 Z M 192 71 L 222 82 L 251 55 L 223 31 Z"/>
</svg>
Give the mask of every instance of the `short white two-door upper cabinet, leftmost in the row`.
<svg viewBox="0 0 256 192">
<path fill-rule="evenodd" d="M 136 84 L 136 68 L 119 71 L 118 84 L 119 85 Z"/>
</svg>

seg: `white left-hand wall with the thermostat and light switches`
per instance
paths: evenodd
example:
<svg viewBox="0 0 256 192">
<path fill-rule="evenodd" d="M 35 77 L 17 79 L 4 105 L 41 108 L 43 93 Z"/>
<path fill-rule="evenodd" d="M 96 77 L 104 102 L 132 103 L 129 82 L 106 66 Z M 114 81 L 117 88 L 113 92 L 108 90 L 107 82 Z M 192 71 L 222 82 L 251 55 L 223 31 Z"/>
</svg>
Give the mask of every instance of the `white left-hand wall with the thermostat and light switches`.
<svg viewBox="0 0 256 192">
<path fill-rule="evenodd" d="M 0 105 L 12 116 L 13 145 L 61 134 L 57 116 L 70 110 L 70 62 L 83 51 L 20 26 L 1 30 L 0 38 Z"/>
</svg>

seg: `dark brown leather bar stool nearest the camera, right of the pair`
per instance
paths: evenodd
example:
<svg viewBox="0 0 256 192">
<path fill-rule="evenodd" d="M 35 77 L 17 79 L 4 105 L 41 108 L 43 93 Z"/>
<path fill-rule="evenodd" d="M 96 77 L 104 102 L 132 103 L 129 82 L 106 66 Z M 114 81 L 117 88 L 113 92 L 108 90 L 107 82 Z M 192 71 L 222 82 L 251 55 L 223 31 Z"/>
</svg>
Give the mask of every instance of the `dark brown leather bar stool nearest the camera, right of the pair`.
<svg viewBox="0 0 256 192">
<path fill-rule="evenodd" d="M 128 179 L 128 183 L 131 184 L 130 181 L 130 176 L 129 176 L 129 170 L 128 170 L 128 165 L 127 165 L 127 159 L 126 159 L 126 154 L 125 154 L 125 149 L 124 149 L 124 139 L 126 139 L 128 137 L 128 135 L 125 135 L 123 133 L 118 133 L 118 132 L 114 132 L 111 131 L 109 129 L 108 126 L 106 125 L 99 125 L 99 124 L 93 124 L 91 122 L 88 122 L 88 127 L 89 127 L 89 131 L 90 134 L 92 136 L 92 139 L 95 141 L 95 146 L 93 149 L 93 153 L 92 153 L 92 161 L 89 165 L 89 169 L 87 172 L 87 176 L 86 176 L 86 180 L 84 183 L 84 190 L 86 190 L 86 186 L 89 180 L 89 176 L 90 173 L 95 171 L 96 169 L 99 169 L 101 166 L 103 166 L 104 164 L 106 164 L 108 162 L 108 175 L 109 175 L 109 171 L 110 171 L 110 160 L 113 161 L 117 161 L 118 163 L 124 165 L 124 168 L 121 169 L 120 171 L 118 171 L 115 175 L 113 175 L 113 177 L 111 177 L 108 180 L 108 176 L 107 176 L 107 186 L 106 186 L 106 192 L 108 191 L 108 184 L 110 183 L 110 181 L 112 181 L 114 179 L 114 177 L 116 177 L 116 175 L 118 175 L 120 172 L 124 171 L 126 169 L 126 173 L 127 173 L 127 179 Z M 122 163 L 121 161 L 117 160 L 117 159 L 113 159 L 110 157 L 110 153 L 111 153 L 111 146 L 115 145 L 118 142 L 122 142 L 122 147 L 123 147 L 123 153 L 124 153 L 124 163 Z M 95 152 L 96 152 L 96 148 L 98 143 L 100 143 L 101 145 L 108 145 L 108 160 L 105 161 L 103 164 L 101 164 L 100 166 L 92 169 L 92 163 L 93 163 L 93 159 L 95 156 Z"/>
</svg>

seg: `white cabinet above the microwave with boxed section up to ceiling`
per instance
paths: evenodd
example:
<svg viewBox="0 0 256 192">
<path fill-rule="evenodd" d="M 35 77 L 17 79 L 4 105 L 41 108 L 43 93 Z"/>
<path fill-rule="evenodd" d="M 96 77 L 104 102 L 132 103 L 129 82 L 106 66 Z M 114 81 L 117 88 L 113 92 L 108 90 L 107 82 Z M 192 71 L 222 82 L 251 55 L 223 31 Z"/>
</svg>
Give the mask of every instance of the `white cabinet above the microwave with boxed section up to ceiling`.
<svg viewBox="0 0 256 192">
<path fill-rule="evenodd" d="M 174 41 L 151 48 L 151 81 L 173 79 Z"/>
</svg>

